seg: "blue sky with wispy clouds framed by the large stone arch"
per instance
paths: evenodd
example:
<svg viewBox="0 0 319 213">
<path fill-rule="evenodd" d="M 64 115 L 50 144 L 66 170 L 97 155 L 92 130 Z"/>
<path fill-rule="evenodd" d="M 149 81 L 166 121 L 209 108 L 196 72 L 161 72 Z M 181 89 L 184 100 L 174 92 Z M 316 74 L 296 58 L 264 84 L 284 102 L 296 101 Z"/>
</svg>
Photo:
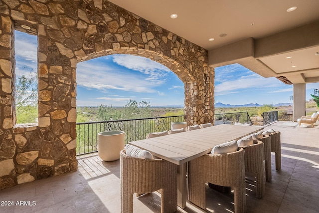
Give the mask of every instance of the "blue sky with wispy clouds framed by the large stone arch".
<svg viewBox="0 0 319 213">
<path fill-rule="evenodd" d="M 142 56 L 113 54 L 77 64 L 78 107 L 123 107 L 131 99 L 184 108 L 184 84 L 167 67 Z"/>
</svg>

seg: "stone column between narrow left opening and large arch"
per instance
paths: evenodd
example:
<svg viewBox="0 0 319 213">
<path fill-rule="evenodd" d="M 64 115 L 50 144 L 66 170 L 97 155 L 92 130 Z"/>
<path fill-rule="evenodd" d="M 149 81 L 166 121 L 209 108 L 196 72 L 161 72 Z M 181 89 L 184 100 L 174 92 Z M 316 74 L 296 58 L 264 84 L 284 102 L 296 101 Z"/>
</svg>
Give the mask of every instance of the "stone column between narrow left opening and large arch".
<svg viewBox="0 0 319 213">
<path fill-rule="evenodd" d="M 53 166 L 54 175 L 60 175 L 77 170 L 76 56 L 62 36 L 61 42 L 53 41 L 48 32 L 57 37 L 56 31 L 38 25 L 38 126 L 50 136 L 42 142 L 38 161 L 44 168 Z"/>
</svg>

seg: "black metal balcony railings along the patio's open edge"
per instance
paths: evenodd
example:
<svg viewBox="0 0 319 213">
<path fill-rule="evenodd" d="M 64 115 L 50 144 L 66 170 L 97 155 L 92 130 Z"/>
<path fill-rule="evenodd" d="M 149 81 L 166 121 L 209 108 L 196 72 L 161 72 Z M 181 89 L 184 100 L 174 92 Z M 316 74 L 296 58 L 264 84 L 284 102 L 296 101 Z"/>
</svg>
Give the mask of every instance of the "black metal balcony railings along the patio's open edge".
<svg viewBox="0 0 319 213">
<path fill-rule="evenodd" d="M 317 111 L 306 111 L 311 116 Z M 274 121 L 292 121 L 293 111 L 270 111 L 262 114 L 264 125 Z M 96 121 L 77 123 L 77 148 L 76 154 L 82 155 L 97 152 L 97 135 L 99 132 L 121 130 L 125 132 L 126 143 L 145 139 L 150 132 L 161 132 L 170 129 L 170 122 L 183 122 L 184 116 L 167 116 L 155 118 L 140 118 L 127 120 Z M 235 112 L 215 114 L 215 125 L 252 123 L 248 112 Z"/>
</svg>

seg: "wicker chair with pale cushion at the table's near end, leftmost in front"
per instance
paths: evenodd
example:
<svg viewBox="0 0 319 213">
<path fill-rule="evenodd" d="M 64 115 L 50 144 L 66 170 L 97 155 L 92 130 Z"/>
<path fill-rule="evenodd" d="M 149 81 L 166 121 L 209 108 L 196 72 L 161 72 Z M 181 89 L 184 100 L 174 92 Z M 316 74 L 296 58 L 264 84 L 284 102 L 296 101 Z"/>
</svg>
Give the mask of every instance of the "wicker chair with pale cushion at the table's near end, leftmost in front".
<svg viewBox="0 0 319 213">
<path fill-rule="evenodd" d="M 133 213 L 133 194 L 160 190 L 161 213 L 177 210 L 177 166 L 162 159 L 148 160 L 120 152 L 121 213 Z"/>
</svg>

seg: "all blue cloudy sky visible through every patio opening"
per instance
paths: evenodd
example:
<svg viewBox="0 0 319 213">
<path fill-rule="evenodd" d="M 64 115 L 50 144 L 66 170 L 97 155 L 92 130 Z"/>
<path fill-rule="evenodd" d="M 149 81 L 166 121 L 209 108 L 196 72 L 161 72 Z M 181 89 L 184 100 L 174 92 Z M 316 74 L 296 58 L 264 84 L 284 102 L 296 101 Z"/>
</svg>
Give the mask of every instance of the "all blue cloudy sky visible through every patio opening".
<svg viewBox="0 0 319 213">
<path fill-rule="evenodd" d="M 36 36 L 15 31 L 16 75 L 37 70 Z M 319 83 L 306 85 L 306 99 Z M 291 103 L 293 85 L 264 78 L 232 64 L 215 68 L 215 103 Z M 124 106 L 130 99 L 151 106 L 183 105 L 184 85 L 167 67 L 151 59 L 116 54 L 77 64 L 77 106 Z"/>
</svg>

